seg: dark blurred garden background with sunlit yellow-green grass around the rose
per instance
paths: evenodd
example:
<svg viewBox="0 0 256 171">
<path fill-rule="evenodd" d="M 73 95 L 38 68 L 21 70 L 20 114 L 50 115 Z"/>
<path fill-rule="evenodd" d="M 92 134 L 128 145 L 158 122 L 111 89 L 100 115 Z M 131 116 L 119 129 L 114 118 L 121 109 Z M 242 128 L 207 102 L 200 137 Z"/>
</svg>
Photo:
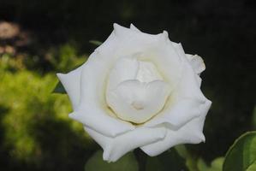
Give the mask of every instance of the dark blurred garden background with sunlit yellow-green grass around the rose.
<svg viewBox="0 0 256 171">
<path fill-rule="evenodd" d="M 114 22 L 166 30 L 205 60 L 202 91 L 212 107 L 205 144 L 187 145 L 211 162 L 256 128 L 256 2 L 253 0 L 0 0 L 0 170 L 84 170 L 99 149 L 71 121 L 56 73 L 86 61 Z"/>
</svg>

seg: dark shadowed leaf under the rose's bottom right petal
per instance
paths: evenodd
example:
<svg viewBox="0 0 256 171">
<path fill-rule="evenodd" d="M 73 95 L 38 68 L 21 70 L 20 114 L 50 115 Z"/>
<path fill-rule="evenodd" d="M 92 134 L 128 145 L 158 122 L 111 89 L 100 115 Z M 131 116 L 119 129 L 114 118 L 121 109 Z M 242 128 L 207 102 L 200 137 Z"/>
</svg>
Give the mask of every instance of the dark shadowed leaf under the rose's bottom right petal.
<svg viewBox="0 0 256 171">
<path fill-rule="evenodd" d="M 172 148 L 159 156 L 148 157 L 146 161 L 146 171 L 186 171 L 185 159 Z"/>
</svg>

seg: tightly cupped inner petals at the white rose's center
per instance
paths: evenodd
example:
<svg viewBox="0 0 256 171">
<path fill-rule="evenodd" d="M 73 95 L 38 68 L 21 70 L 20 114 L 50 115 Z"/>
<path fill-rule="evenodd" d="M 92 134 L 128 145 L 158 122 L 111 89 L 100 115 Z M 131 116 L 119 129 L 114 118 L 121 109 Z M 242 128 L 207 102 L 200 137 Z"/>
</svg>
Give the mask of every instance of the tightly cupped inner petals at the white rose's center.
<svg viewBox="0 0 256 171">
<path fill-rule="evenodd" d="M 143 123 L 164 108 L 170 86 L 152 62 L 121 58 L 110 71 L 106 101 L 124 121 Z"/>
</svg>

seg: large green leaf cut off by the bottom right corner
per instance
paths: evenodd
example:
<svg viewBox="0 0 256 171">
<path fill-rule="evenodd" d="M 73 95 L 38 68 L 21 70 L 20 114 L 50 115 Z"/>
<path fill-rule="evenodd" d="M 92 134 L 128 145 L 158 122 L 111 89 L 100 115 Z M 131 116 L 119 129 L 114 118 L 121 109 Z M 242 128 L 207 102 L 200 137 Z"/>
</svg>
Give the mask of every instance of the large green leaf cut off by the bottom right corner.
<svg viewBox="0 0 256 171">
<path fill-rule="evenodd" d="M 256 166 L 256 131 L 244 133 L 229 148 L 223 171 L 253 171 Z"/>
</svg>

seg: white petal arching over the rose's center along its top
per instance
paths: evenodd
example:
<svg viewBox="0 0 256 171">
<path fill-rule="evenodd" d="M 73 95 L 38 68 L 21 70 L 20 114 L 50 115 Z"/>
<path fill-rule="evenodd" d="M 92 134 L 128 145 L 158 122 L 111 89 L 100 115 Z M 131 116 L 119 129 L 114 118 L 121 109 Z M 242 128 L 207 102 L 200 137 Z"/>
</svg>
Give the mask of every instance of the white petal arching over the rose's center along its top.
<svg viewBox="0 0 256 171">
<path fill-rule="evenodd" d="M 114 31 L 96 51 L 108 57 L 112 64 L 119 57 L 130 55 L 136 55 L 141 61 L 151 61 L 173 86 L 182 74 L 182 58 L 170 44 L 167 32 L 152 35 L 114 24 Z"/>
</svg>

